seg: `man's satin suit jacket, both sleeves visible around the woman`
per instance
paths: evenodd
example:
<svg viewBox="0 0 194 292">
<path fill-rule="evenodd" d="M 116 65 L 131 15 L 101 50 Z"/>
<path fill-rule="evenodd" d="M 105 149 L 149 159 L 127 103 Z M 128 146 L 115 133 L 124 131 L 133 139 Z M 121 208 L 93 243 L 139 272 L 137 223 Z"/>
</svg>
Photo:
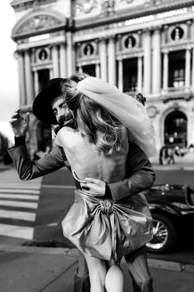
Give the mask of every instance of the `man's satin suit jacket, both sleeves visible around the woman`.
<svg viewBox="0 0 194 292">
<path fill-rule="evenodd" d="M 61 147 L 56 147 L 49 154 L 36 161 L 31 161 L 29 158 L 26 145 L 12 147 L 8 149 L 8 152 L 21 180 L 31 180 L 64 166 L 70 166 Z M 149 159 L 140 147 L 129 143 L 125 178 L 116 183 L 109 183 L 108 187 L 111 190 L 113 201 L 118 201 L 147 189 L 153 185 L 154 181 L 155 173 Z M 80 187 L 78 182 L 76 187 Z"/>
</svg>

